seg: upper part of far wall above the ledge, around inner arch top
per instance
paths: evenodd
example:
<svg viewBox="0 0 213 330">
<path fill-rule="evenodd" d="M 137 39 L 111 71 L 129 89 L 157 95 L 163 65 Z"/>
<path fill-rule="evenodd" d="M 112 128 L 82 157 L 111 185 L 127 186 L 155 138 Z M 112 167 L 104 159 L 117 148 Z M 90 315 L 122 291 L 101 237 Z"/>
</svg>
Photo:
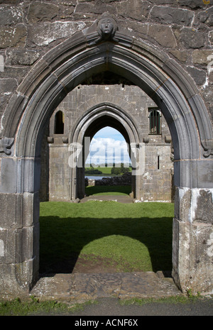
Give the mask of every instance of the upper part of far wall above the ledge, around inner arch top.
<svg viewBox="0 0 213 330">
<path fill-rule="evenodd" d="M 148 138 L 148 109 L 158 108 L 158 106 L 141 88 L 122 84 L 80 85 L 73 89 L 55 109 L 50 119 L 50 136 L 53 136 L 54 133 L 53 127 L 57 111 L 61 110 L 65 114 L 64 135 L 68 137 L 85 112 L 103 102 L 124 109 L 137 123 L 141 131 L 141 138 Z M 165 136 L 169 134 L 168 125 L 163 117 L 162 135 L 153 136 L 153 138 L 150 136 L 150 139 L 151 141 L 159 141 L 159 139 L 164 141 Z"/>
</svg>

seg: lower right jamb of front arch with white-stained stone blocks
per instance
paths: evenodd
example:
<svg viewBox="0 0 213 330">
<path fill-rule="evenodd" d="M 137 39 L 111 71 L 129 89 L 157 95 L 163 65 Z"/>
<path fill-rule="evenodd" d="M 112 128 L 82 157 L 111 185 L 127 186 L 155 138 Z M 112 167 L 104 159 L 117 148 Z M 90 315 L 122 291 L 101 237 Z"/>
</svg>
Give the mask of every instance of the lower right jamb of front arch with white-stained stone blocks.
<svg viewBox="0 0 213 330">
<path fill-rule="evenodd" d="M 176 188 L 173 278 L 182 292 L 213 292 L 213 189 Z"/>
</svg>

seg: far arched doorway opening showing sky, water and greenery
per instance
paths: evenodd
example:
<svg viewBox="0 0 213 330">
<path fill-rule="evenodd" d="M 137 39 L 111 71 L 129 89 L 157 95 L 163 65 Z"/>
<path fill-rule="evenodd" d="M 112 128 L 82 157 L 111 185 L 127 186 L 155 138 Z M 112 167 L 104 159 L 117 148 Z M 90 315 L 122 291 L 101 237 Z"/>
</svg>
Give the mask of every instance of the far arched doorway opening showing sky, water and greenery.
<svg viewBox="0 0 213 330">
<path fill-rule="evenodd" d="M 100 129 L 92 138 L 85 162 L 85 195 L 129 196 L 131 169 L 124 136 L 110 126 Z"/>
</svg>

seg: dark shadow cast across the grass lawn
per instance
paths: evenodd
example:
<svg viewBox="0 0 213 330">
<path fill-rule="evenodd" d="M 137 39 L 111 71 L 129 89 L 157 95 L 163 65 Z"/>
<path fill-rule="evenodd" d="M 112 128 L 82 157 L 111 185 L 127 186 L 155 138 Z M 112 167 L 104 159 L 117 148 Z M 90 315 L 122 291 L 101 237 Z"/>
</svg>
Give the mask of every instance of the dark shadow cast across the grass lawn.
<svg viewBox="0 0 213 330">
<path fill-rule="evenodd" d="M 96 243 L 99 238 L 112 238 L 108 244 L 110 253 L 118 253 L 119 248 L 129 253 L 129 258 L 136 258 L 136 263 L 146 261 L 141 253 L 141 244 L 148 250 L 148 262 L 151 269 L 158 271 L 172 269 L 172 218 L 60 218 L 59 216 L 40 216 L 40 274 L 72 273 L 82 249 L 89 243 Z M 125 237 L 126 243 L 119 247 L 119 239 Z M 130 238 L 132 238 L 133 241 Z M 135 248 L 134 242 L 136 242 Z M 107 246 L 106 244 L 106 246 Z M 113 244 L 116 250 L 113 252 Z M 111 248 L 111 250 L 110 250 Z M 141 255 L 141 256 L 140 256 Z M 125 260 L 127 258 L 123 256 Z M 139 260 L 138 260 L 139 258 Z M 140 260 L 141 258 L 141 260 Z M 137 261 L 138 260 L 138 261 Z M 146 266 L 145 266 L 146 268 Z M 136 270 L 138 267 L 136 266 Z"/>
</svg>

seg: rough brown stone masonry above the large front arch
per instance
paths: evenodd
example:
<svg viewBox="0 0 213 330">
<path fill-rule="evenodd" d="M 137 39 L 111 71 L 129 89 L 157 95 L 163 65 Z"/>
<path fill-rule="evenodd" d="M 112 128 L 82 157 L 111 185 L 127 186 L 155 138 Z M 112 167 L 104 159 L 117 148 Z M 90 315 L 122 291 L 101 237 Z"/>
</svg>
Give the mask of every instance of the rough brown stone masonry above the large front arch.
<svg viewBox="0 0 213 330">
<path fill-rule="evenodd" d="M 33 64 L 104 11 L 179 62 L 195 79 L 213 118 L 212 0 L 1 0 L 0 117 Z"/>
</svg>

